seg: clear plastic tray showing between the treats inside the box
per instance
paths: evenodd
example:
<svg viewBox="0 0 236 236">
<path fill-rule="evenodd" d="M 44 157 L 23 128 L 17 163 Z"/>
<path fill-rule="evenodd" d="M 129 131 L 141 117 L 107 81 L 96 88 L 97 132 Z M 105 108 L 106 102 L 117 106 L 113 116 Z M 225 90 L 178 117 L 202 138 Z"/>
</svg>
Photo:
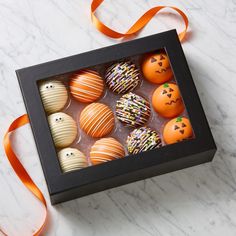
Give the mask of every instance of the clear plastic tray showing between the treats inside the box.
<svg viewBox="0 0 236 236">
<path fill-rule="evenodd" d="M 123 94 L 117 94 L 115 92 L 112 92 L 108 86 L 106 85 L 105 82 L 105 73 L 106 70 L 109 68 L 109 66 L 113 65 L 114 63 L 117 62 L 124 62 L 124 61 L 131 61 L 132 63 L 134 63 L 136 65 L 136 68 L 139 70 L 140 72 L 140 79 L 141 79 L 141 83 L 137 86 L 137 88 L 135 88 L 134 90 L 132 90 L 133 93 L 140 95 L 141 97 L 145 98 L 149 104 L 150 104 L 150 108 L 151 108 L 151 115 L 147 121 L 147 123 L 144 126 L 150 127 L 151 129 L 157 131 L 157 133 L 160 135 L 161 140 L 162 140 L 162 146 L 166 146 L 166 145 L 171 145 L 171 144 L 166 144 L 163 140 L 163 127 L 164 125 L 171 119 L 173 118 L 177 118 L 177 117 L 186 117 L 189 119 L 188 116 L 188 112 L 186 110 L 186 108 L 184 109 L 184 111 L 182 113 L 180 113 L 178 116 L 173 117 L 173 118 L 164 118 L 161 115 L 159 115 L 152 106 L 152 95 L 153 92 L 161 85 L 163 85 L 164 83 L 161 84 L 155 84 L 155 83 L 151 83 L 149 82 L 145 76 L 142 73 L 142 69 L 141 69 L 141 64 L 144 60 L 145 55 L 147 55 L 148 53 L 159 53 L 159 52 L 164 52 L 166 55 L 166 51 L 165 49 L 161 48 L 158 50 L 152 50 L 152 51 L 148 51 L 144 54 L 139 54 L 139 55 L 135 55 L 132 57 L 126 57 L 126 58 L 121 58 L 120 60 L 116 60 L 116 61 L 112 61 L 109 63 L 104 63 L 104 64 L 98 64 L 89 68 L 80 68 L 80 70 L 78 71 L 72 71 L 66 74 L 62 74 L 62 75 L 57 75 L 54 77 L 50 77 L 50 78 L 45 78 L 43 80 L 40 80 L 37 82 L 38 87 L 40 87 L 40 84 L 42 82 L 45 82 L 45 80 L 48 80 L 49 82 L 51 80 L 59 80 L 61 81 L 67 88 L 68 91 L 68 95 L 69 95 L 69 99 L 65 105 L 65 107 L 60 111 L 60 112 L 64 112 L 68 115 L 70 115 L 77 123 L 77 127 L 78 127 L 78 135 L 76 140 L 69 145 L 68 147 L 72 147 L 72 148 L 77 148 L 80 151 L 82 151 L 88 161 L 88 167 L 92 166 L 91 160 L 90 160 L 90 150 L 92 145 L 100 138 L 93 138 L 89 135 L 87 135 L 81 128 L 80 128 L 80 122 L 79 122 L 79 117 L 81 114 L 81 111 L 90 103 L 83 103 L 83 102 L 79 102 L 76 99 L 73 98 L 73 96 L 70 93 L 70 88 L 69 88 L 69 81 L 71 80 L 71 78 L 73 77 L 73 75 L 75 73 L 79 73 L 81 70 L 83 69 L 90 69 L 90 70 L 94 70 L 96 72 L 99 73 L 99 75 L 103 78 L 104 80 L 104 92 L 102 94 L 102 96 L 96 100 L 95 102 L 99 102 L 99 103 L 103 103 L 108 105 L 111 110 L 113 111 L 114 117 L 115 117 L 115 127 L 114 129 L 111 131 L 111 133 L 109 133 L 108 135 L 104 136 L 104 137 L 113 137 L 116 140 L 118 140 L 124 147 L 125 149 L 125 158 L 135 158 L 135 155 L 129 154 L 127 151 L 127 144 L 126 144 L 126 140 L 128 135 L 130 134 L 130 132 L 132 132 L 132 130 L 134 130 L 135 128 L 133 127 L 127 127 L 124 124 L 122 124 L 116 117 L 116 102 L 117 100 L 123 95 Z M 168 57 L 168 55 L 167 55 Z M 170 61 L 171 64 L 171 61 Z M 174 73 L 173 76 L 170 80 L 168 80 L 165 83 L 175 83 L 177 84 L 177 81 L 175 79 Z M 184 103 L 184 101 L 183 101 Z M 45 111 L 46 113 L 46 111 Z M 46 113 L 46 116 L 50 115 Z M 140 127 L 140 126 L 138 126 Z M 193 131 L 193 135 L 191 136 L 191 139 L 194 138 L 194 131 Z M 181 142 L 188 142 L 188 140 L 184 140 Z M 55 148 L 56 152 L 60 151 L 60 148 Z M 148 158 L 148 156 L 146 156 L 145 158 Z M 116 160 L 112 160 L 112 161 L 116 161 Z M 59 163 L 60 164 L 60 163 Z M 104 162 L 102 163 L 102 165 L 106 165 L 107 163 Z M 76 170 L 79 171 L 79 170 Z"/>
</svg>

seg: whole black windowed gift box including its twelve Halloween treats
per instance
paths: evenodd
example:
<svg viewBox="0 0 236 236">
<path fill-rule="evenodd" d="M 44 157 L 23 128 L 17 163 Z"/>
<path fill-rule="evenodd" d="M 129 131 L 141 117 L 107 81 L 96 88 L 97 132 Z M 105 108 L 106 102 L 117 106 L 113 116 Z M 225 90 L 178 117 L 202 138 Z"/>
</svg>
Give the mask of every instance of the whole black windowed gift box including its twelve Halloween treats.
<svg viewBox="0 0 236 236">
<path fill-rule="evenodd" d="M 17 71 L 52 204 L 212 160 L 175 30 Z"/>
</svg>

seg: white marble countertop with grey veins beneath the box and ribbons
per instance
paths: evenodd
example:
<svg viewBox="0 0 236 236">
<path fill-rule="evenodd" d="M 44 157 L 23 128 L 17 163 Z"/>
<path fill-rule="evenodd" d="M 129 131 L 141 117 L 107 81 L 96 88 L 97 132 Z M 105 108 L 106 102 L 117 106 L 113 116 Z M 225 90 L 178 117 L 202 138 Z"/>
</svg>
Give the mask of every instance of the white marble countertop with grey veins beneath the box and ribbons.
<svg viewBox="0 0 236 236">
<path fill-rule="evenodd" d="M 49 204 L 44 235 L 236 234 L 236 2 L 106 0 L 99 14 L 118 30 L 155 4 L 175 5 L 189 17 L 183 48 L 218 153 L 212 163 L 158 176 L 57 206 Z M 112 9 L 113 8 L 113 9 Z M 120 42 L 90 21 L 90 1 L 0 0 L 0 139 L 10 121 L 25 113 L 15 69 Z M 162 15 L 138 37 L 181 27 Z M 180 25 L 180 27 L 179 27 Z M 35 182 L 48 192 L 29 126 L 16 135 L 15 149 Z M 0 227 L 30 235 L 42 206 L 25 189 L 0 148 Z"/>
</svg>

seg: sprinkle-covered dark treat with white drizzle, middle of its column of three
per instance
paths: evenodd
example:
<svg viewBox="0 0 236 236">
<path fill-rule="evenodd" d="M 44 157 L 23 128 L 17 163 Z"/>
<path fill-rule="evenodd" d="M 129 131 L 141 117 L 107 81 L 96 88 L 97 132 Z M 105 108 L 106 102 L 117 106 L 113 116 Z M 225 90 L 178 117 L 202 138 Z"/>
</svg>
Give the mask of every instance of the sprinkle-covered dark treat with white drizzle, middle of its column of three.
<svg viewBox="0 0 236 236">
<path fill-rule="evenodd" d="M 141 96 L 129 92 L 116 103 L 116 116 L 125 126 L 143 126 L 150 117 L 150 105 Z"/>
</svg>

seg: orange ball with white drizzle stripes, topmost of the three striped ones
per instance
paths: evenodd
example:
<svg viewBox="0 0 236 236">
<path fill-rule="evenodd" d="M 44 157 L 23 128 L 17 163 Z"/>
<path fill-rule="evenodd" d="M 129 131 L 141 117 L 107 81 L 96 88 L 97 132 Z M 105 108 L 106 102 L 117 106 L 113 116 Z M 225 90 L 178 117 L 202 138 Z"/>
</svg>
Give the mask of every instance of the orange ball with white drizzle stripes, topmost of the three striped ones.
<svg viewBox="0 0 236 236">
<path fill-rule="evenodd" d="M 74 74 L 69 83 L 71 95 L 79 102 L 94 102 L 103 93 L 103 79 L 93 70 L 81 70 Z"/>
</svg>

